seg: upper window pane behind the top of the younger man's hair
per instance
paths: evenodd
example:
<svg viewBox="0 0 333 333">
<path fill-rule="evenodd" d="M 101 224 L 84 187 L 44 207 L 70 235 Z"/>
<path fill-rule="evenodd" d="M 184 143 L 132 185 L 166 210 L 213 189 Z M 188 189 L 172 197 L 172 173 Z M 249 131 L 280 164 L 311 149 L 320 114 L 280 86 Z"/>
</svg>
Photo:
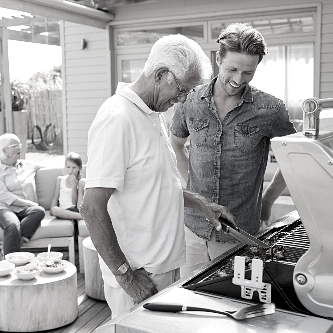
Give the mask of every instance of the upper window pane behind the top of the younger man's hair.
<svg viewBox="0 0 333 333">
<path fill-rule="evenodd" d="M 263 36 L 314 32 L 313 16 L 253 20 L 247 23 L 256 28 Z M 225 28 L 225 23 L 212 23 L 211 38 L 217 39 L 221 30 Z"/>
</svg>

